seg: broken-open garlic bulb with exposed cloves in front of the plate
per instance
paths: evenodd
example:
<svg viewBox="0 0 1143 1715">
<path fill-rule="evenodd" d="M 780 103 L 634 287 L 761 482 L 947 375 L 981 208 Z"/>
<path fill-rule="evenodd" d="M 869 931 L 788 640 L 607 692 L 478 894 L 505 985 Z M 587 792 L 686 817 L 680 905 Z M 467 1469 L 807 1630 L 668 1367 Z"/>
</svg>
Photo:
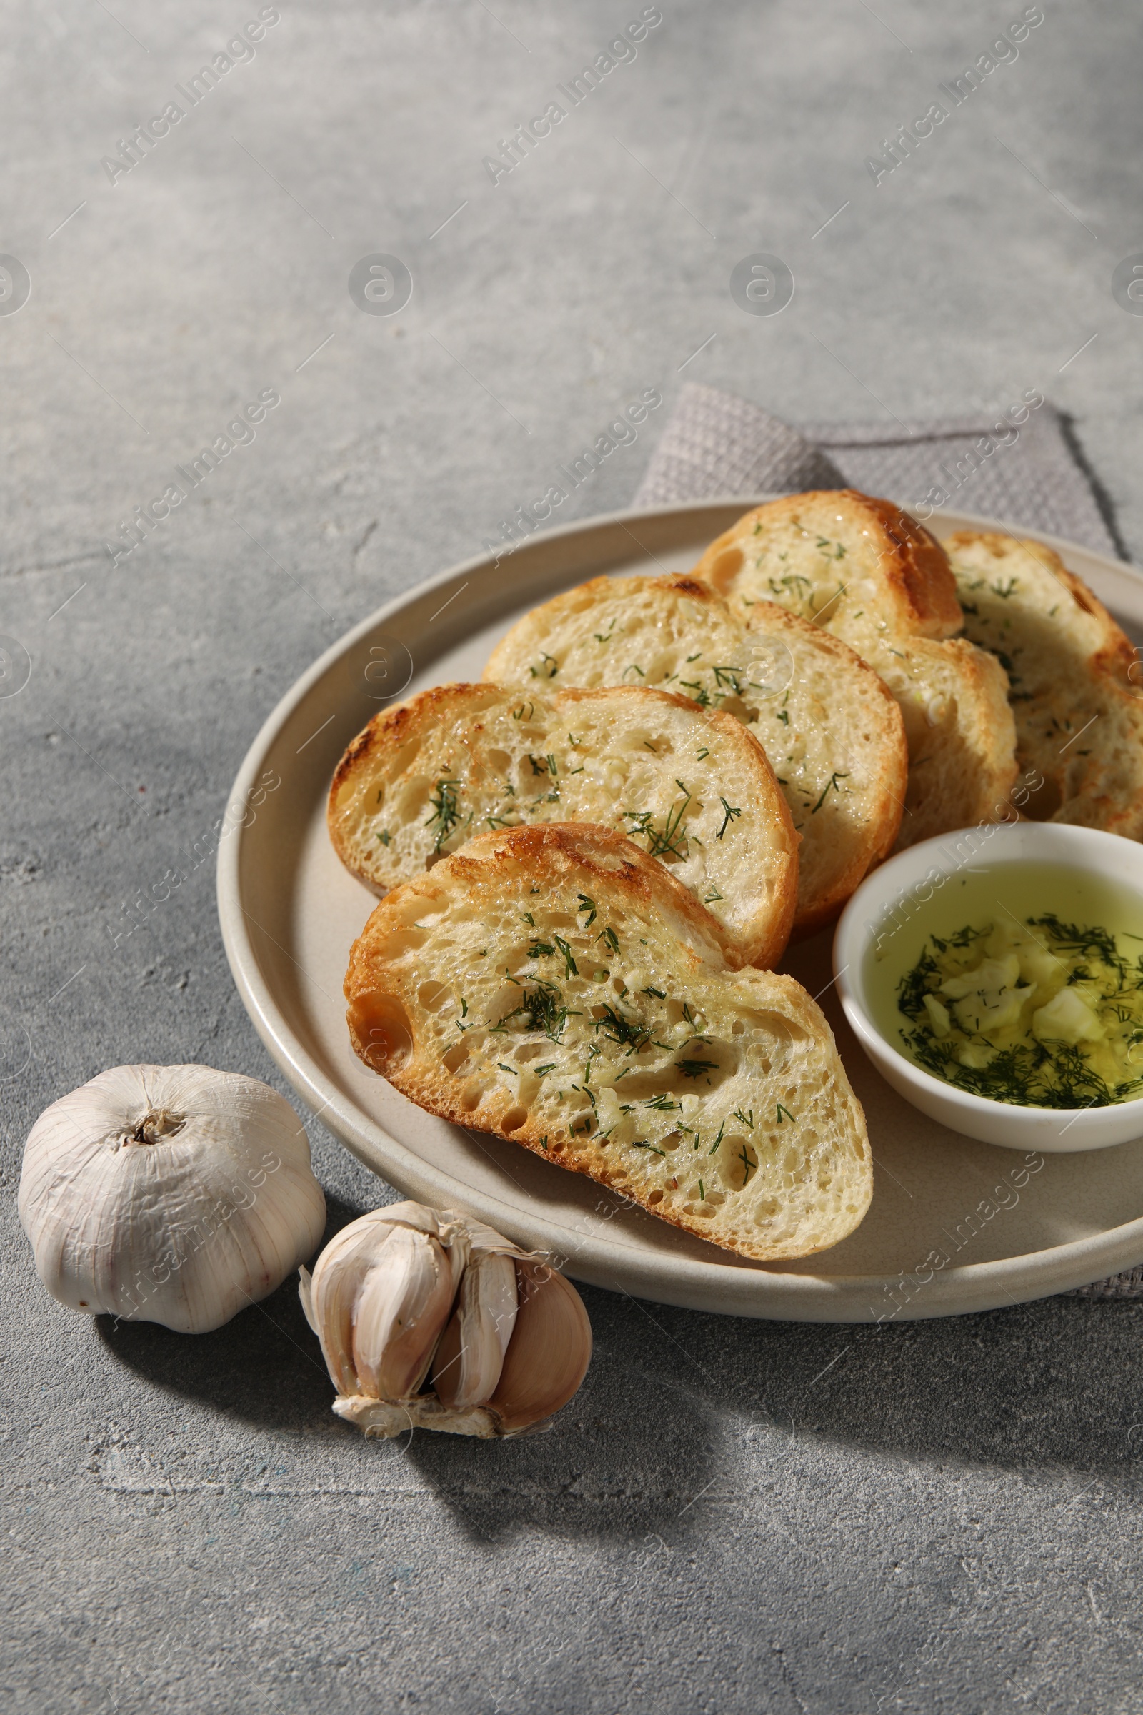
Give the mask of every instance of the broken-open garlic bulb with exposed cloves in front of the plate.
<svg viewBox="0 0 1143 1715">
<path fill-rule="evenodd" d="M 591 1358 L 576 1288 L 483 1221 L 394 1202 L 344 1226 L 302 1305 L 367 1435 L 521 1435 L 567 1405 Z M 432 1389 L 425 1382 L 432 1377 Z"/>
</svg>

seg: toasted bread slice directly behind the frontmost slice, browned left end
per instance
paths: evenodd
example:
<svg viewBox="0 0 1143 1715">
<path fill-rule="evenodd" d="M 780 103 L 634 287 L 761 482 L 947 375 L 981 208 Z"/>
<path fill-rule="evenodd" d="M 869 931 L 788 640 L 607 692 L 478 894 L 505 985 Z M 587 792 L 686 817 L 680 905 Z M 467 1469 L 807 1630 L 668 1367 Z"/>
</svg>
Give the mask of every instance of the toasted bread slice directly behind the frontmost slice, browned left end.
<svg viewBox="0 0 1143 1715">
<path fill-rule="evenodd" d="M 540 821 L 627 833 L 709 907 L 730 964 L 781 957 L 797 900 L 787 801 L 742 722 L 685 696 L 442 684 L 374 715 L 329 791 L 338 856 L 380 894 L 475 833 Z"/>
</svg>

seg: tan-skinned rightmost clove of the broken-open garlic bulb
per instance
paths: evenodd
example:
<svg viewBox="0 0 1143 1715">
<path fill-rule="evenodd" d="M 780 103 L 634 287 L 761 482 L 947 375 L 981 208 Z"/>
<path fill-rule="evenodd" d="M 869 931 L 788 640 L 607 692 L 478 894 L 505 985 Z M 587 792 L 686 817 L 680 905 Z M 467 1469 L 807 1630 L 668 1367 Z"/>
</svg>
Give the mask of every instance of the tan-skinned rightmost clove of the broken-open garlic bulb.
<svg viewBox="0 0 1143 1715">
<path fill-rule="evenodd" d="M 577 1391 L 591 1362 L 591 1322 L 571 1281 L 526 1257 L 518 1259 L 516 1271 L 516 1327 L 488 1399 L 502 1435 L 538 1429 L 554 1417 Z"/>
</svg>

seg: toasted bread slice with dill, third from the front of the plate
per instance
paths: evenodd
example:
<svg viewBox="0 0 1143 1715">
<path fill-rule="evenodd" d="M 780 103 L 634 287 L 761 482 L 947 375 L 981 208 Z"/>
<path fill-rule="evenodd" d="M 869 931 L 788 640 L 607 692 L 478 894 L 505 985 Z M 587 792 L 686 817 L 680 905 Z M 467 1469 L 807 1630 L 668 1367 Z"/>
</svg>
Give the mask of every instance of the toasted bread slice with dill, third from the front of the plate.
<svg viewBox="0 0 1143 1715">
<path fill-rule="evenodd" d="M 739 619 L 694 578 L 593 578 L 524 614 L 485 679 L 661 686 L 737 715 L 802 835 L 802 935 L 838 914 L 896 837 L 908 768 L 896 705 L 850 648 L 781 607 Z"/>
</svg>

